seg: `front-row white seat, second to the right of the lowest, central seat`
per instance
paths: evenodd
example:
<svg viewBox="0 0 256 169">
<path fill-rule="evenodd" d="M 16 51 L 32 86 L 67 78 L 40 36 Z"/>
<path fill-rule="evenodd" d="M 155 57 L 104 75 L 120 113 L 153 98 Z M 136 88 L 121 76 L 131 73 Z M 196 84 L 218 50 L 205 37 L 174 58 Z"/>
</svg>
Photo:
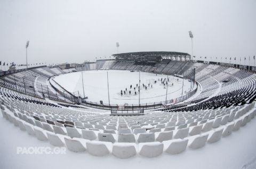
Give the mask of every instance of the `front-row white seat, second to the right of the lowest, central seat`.
<svg viewBox="0 0 256 169">
<path fill-rule="evenodd" d="M 171 142 L 165 152 L 169 154 L 180 154 L 186 150 L 187 145 L 188 139 L 177 139 Z"/>
</svg>

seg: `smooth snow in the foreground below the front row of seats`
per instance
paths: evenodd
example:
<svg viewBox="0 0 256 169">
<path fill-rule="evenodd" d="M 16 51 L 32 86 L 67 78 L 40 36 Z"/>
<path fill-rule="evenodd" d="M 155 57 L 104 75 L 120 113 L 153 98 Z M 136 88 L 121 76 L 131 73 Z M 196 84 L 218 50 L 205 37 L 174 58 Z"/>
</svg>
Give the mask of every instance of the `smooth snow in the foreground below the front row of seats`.
<svg viewBox="0 0 256 169">
<path fill-rule="evenodd" d="M 167 153 L 155 158 L 139 155 L 128 159 L 119 159 L 113 155 L 95 157 L 87 153 L 66 154 L 17 154 L 17 147 L 50 147 L 48 141 L 39 141 L 21 131 L 13 123 L 0 115 L 0 168 L 209 168 L 209 169 L 254 169 L 256 168 L 256 119 L 232 132 L 220 141 L 206 144 L 203 148 L 191 150 L 178 155 Z"/>
</svg>

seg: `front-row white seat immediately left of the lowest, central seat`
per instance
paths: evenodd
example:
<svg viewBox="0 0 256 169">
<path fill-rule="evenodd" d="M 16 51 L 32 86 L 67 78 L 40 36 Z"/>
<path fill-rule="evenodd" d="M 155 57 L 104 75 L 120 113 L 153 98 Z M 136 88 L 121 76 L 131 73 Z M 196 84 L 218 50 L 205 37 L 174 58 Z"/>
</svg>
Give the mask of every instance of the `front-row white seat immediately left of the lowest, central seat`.
<svg viewBox="0 0 256 169">
<path fill-rule="evenodd" d="M 93 156 L 105 156 L 109 154 L 106 142 L 90 141 L 86 142 L 87 151 Z"/>
</svg>

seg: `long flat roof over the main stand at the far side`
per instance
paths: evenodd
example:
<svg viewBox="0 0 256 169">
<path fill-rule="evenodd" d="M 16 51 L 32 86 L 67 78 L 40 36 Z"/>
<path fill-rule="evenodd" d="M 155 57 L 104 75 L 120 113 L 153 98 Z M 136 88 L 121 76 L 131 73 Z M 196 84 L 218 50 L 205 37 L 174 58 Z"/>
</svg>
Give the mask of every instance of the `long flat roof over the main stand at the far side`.
<svg viewBox="0 0 256 169">
<path fill-rule="evenodd" d="M 130 52 L 130 53 L 119 53 L 119 54 L 113 54 L 112 56 L 127 56 L 127 55 L 137 55 L 137 56 L 150 56 L 150 55 L 185 55 L 190 56 L 188 53 L 182 53 L 182 52 Z"/>
</svg>

